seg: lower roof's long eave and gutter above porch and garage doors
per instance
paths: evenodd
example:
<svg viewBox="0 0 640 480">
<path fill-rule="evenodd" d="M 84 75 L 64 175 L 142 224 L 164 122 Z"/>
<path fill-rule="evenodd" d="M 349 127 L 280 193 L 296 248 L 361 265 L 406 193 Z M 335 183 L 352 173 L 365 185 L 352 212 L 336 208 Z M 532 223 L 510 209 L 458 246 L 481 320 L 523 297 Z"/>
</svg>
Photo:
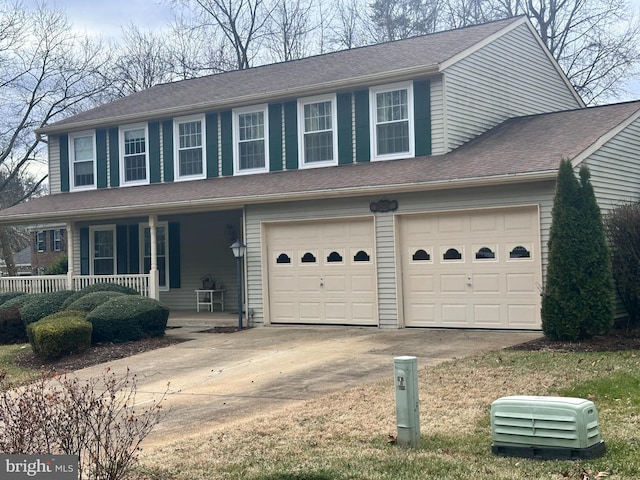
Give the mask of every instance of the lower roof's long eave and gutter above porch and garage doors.
<svg viewBox="0 0 640 480">
<path fill-rule="evenodd" d="M 531 183 L 555 180 L 557 169 L 525 172 L 517 174 L 494 175 L 491 177 L 472 177 L 464 179 L 437 180 L 433 182 L 414 182 L 382 186 L 359 186 L 346 188 L 327 188 L 313 192 L 274 193 L 268 195 L 243 195 L 227 198 L 206 198 L 185 200 L 170 203 L 152 203 L 137 206 L 108 206 L 99 209 L 61 210 L 55 213 L 21 214 L 0 217 L 0 225 L 32 225 L 67 221 L 96 221 L 131 216 L 151 215 L 162 212 L 167 214 L 199 213 L 214 210 L 230 210 L 243 208 L 246 205 L 267 203 L 297 202 L 322 200 L 327 198 L 344 198 L 370 195 L 401 194 L 422 191 L 458 189 L 469 187 L 489 187 L 513 183 Z"/>
</svg>

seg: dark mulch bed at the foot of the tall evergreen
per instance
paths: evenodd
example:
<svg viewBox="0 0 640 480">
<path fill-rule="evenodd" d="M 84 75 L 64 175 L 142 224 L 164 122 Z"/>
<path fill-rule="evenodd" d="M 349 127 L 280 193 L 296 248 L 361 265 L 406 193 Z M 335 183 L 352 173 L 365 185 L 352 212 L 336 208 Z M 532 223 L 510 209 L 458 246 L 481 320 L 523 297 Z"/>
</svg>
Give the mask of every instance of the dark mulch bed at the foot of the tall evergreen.
<svg viewBox="0 0 640 480">
<path fill-rule="evenodd" d="M 550 352 L 617 352 L 620 350 L 640 350 L 640 331 L 625 332 L 615 330 L 607 336 L 595 336 L 579 342 L 560 342 L 540 337 L 529 342 L 514 345 L 508 350 L 550 351 Z"/>
</svg>

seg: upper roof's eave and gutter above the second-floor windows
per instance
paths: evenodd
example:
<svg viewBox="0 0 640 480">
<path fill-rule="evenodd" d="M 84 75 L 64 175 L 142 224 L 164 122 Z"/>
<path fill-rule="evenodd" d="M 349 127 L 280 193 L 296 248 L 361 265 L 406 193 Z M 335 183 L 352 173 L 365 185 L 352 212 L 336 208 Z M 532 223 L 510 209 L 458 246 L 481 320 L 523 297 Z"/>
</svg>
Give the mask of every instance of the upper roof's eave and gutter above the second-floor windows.
<svg viewBox="0 0 640 480">
<path fill-rule="evenodd" d="M 313 85 L 306 85 L 304 87 L 295 89 L 283 89 L 273 90 L 266 93 L 258 93 L 254 95 L 245 95 L 242 97 L 232 97 L 218 102 L 199 102 L 191 105 L 181 105 L 179 107 L 165 108 L 146 112 L 144 114 L 132 113 L 128 115 L 119 115 L 112 117 L 99 118 L 89 121 L 69 122 L 63 125 L 48 125 L 37 129 L 35 132 L 39 135 L 51 135 L 57 133 L 64 133 L 74 131 L 78 129 L 91 129 L 100 128 L 109 125 L 126 125 L 130 123 L 136 123 L 151 118 L 168 118 L 183 115 L 190 115 L 193 113 L 201 113 L 211 110 L 225 110 L 234 107 L 241 107 L 245 105 L 254 105 L 264 103 L 267 100 L 273 101 L 276 99 L 290 98 L 290 97 L 304 97 L 311 96 L 318 93 L 323 93 L 328 90 L 338 91 L 346 88 L 359 88 L 363 86 L 372 86 L 377 83 L 389 83 L 399 80 L 405 80 L 408 77 L 415 76 L 431 76 L 438 74 L 440 67 L 438 64 L 434 65 L 419 65 L 409 68 L 403 68 L 383 73 L 371 73 L 368 75 L 362 75 L 359 77 L 345 78 L 342 80 L 336 80 L 331 82 L 317 83 Z"/>
</svg>

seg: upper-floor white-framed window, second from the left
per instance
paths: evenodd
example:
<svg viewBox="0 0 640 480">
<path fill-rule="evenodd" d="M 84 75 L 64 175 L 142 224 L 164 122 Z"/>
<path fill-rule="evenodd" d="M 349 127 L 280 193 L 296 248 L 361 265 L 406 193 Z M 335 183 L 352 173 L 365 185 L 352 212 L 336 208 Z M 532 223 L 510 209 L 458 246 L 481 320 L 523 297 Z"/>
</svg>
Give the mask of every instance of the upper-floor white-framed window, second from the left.
<svg viewBox="0 0 640 480">
<path fill-rule="evenodd" d="M 146 125 L 131 125 L 120 129 L 120 166 L 123 185 L 149 183 L 147 158 L 148 135 Z"/>
</svg>

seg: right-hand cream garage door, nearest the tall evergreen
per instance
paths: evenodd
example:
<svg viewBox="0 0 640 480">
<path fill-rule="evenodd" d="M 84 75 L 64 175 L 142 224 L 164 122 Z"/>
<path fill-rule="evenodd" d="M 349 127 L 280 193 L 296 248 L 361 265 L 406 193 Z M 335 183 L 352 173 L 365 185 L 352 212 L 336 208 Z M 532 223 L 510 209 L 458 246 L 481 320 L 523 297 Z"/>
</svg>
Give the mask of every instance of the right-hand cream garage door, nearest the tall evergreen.
<svg viewBox="0 0 640 480">
<path fill-rule="evenodd" d="M 406 326 L 540 328 L 537 207 L 400 217 Z"/>
</svg>

